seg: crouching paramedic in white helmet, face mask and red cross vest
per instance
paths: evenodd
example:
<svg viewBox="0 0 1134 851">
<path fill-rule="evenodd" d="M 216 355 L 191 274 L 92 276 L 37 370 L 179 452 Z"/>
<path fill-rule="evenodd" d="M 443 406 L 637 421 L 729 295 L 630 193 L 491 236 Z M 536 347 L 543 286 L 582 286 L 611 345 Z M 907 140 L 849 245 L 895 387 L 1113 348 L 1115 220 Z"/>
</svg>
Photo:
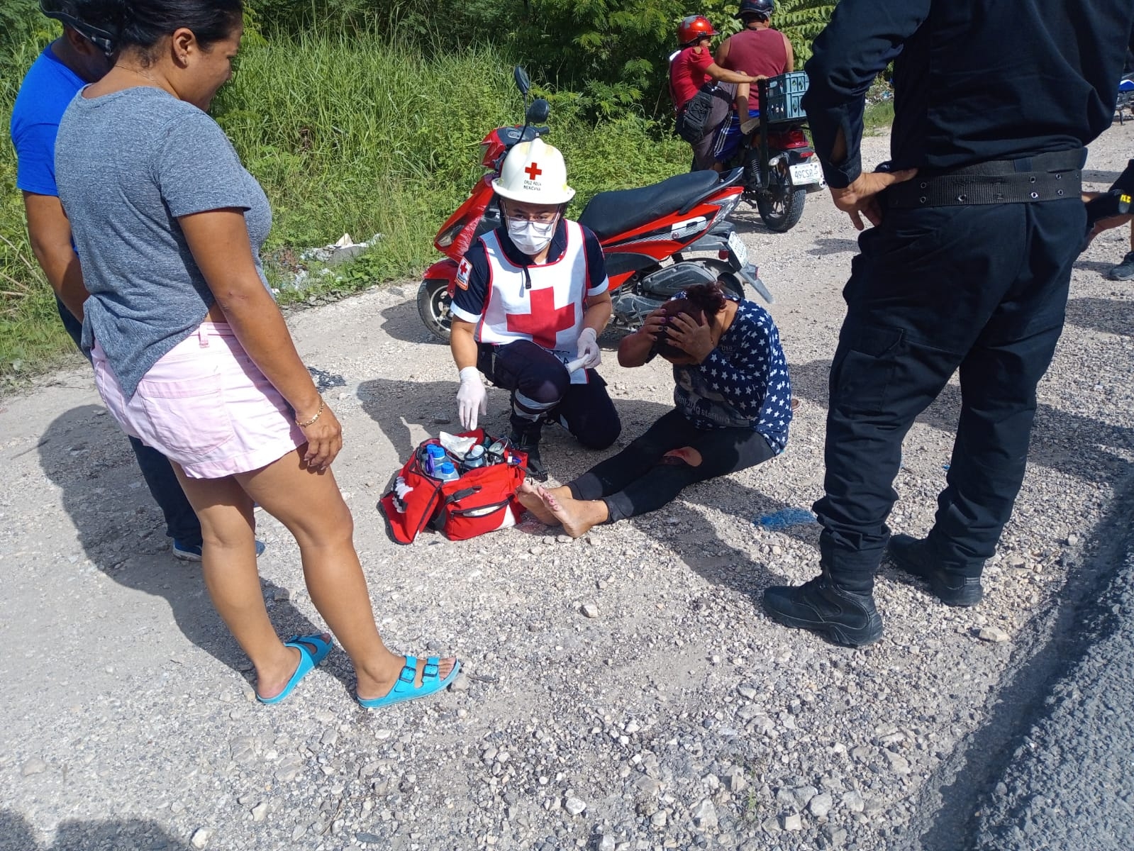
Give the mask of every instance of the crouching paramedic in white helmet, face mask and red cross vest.
<svg viewBox="0 0 1134 851">
<path fill-rule="evenodd" d="M 528 474 L 548 478 L 540 435 L 548 420 L 585 447 L 606 449 L 621 431 L 595 366 L 610 321 L 599 239 L 564 218 L 575 191 L 562 154 L 541 138 L 521 142 L 492 183 L 503 225 L 473 243 L 452 296 L 452 360 L 460 371 L 460 424 L 486 411 L 481 373 L 511 391 L 511 435 Z"/>
</svg>

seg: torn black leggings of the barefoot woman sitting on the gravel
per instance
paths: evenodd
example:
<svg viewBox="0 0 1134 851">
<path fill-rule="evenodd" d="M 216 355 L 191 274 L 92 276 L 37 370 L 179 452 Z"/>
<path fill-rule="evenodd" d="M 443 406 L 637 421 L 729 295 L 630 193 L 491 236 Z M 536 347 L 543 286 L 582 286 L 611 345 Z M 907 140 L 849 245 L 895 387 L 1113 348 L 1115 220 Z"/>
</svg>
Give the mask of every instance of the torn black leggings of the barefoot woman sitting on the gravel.
<svg viewBox="0 0 1134 851">
<path fill-rule="evenodd" d="M 667 452 L 691 446 L 701 454 L 696 466 Z M 608 522 L 657 511 L 689 485 L 735 473 L 768 461 L 775 450 L 753 429 L 699 429 L 679 411 L 670 411 L 611 458 L 596 464 L 567 487 L 576 499 L 602 499 Z"/>
</svg>

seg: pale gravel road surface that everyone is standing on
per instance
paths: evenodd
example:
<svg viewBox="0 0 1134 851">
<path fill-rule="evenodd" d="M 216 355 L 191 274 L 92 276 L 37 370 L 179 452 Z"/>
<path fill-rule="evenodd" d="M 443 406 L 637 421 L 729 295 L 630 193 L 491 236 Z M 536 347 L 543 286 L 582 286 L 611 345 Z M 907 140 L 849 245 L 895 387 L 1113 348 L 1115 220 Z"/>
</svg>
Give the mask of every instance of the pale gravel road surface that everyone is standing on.
<svg viewBox="0 0 1134 851">
<path fill-rule="evenodd" d="M 1134 127 L 1117 125 L 1099 140 L 1090 185 L 1110 183 L 1132 141 Z M 886 148 L 866 140 L 865 160 Z M 1060 601 L 1128 570 L 1103 557 L 1125 528 L 1116 511 L 1128 525 L 1128 503 L 1114 498 L 1134 458 L 1134 287 L 1103 278 L 1126 233 L 1102 235 L 1074 272 L 984 603 L 947 608 L 883 566 L 886 635 L 849 650 L 761 613 L 764 588 L 818 571 L 818 526 L 753 519 L 821 495 L 855 231 L 826 195 L 785 235 L 747 211 L 737 224 L 777 296 L 802 401 L 787 452 L 577 541 L 527 520 L 463 544 L 391 544 L 381 491 L 413 445 L 454 428 L 448 351 L 417 319 L 415 284 L 290 318 L 344 423 L 336 473 L 387 641 L 465 663 L 432 701 L 359 709 L 336 650 L 286 702 L 255 703 L 247 659 L 198 571 L 171 558 L 88 369 L 0 401 L 0 849 L 1032 849 L 1043 819 L 1100 808 L 1134 833 L 1128 752 L 1125 774 L 1115 762 L 1110 775 L 1123 792 L 1098 784 L 1060 804 L 1052 768 L 1044 800 L 1014 775 L 982 798 L 1038 713 L 1049 721 L 1031 741 L 1057 749 L 1080 734 L 1043 705 L 1066 673 L 1052 648 L 1080 630 Z M 625 444 L 667 410 L 671 380 L 660 362 L 620 369 L 616 342 L 603 339 L 602 372 Z M 950 385 L 906 440 L 895 531 L 931 523 L 958 395 Z M 506 395 L 489 399 L 489 428 L 503 430 Z M 547 444 L 560 480 L 600 457 L 561 432 Z M 279 631 L 318 631 L 295 544 L 259 516 Z M 1095 706 L 1082 724 L 1105 747 L 1108 706 L 1128 723 L 1128 700 Z"/>
</svg>

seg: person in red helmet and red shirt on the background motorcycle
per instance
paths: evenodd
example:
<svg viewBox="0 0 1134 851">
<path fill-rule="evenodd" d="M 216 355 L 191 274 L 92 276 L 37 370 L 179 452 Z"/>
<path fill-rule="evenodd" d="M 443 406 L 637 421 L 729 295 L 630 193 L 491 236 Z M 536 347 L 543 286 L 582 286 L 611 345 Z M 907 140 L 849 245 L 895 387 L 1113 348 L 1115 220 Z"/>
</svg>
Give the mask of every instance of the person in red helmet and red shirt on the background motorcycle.
<svg viewBox="0 0 1134 851">
<path fill-rule="evenodd" d="M 744 28 L 730 35 L 717 48 L 717 65 L 729 70 L 743 68 L 763 77 L 775 77 L 795 70 L 795 51 L 784 33 L 771 28 L 775 0 L 742 0 L 736 17 Z M 741 124 L 760 115 L 760 95 L 755 86 L 736 92 L 736 111 L 713 143 L 713 157 L 720 162 L 733 159 L 744 134 Z"/>
</svg>

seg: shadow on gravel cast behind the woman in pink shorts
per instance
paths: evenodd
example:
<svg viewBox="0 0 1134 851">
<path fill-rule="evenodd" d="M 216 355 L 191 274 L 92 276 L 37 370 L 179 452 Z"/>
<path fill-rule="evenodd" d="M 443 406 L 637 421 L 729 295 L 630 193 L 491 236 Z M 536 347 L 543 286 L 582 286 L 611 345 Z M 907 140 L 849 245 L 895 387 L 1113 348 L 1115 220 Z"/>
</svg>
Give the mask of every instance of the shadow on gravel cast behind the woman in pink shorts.
<svg viewBox="0 0 1134 851">
<path fill-rule="evenodd" d="M 85 447 L 94 441 L 119 440 L 121 452 L 108 456 L 104 452 L 93 456 Z M 61 494 L 64 508 L 78 531 L 79 544 L 94 566 L 115 582 L 135 591 L 162 597 L 169 604 L 178 629 L 191 642 L 234 671 L 242 672 L 252 682 L 248 658 L 232 639 L 217 610 L 212 607 L 201 571 L 194 563 L 176 561 L 163 548 L 153 553 L 155 542 L 162 541 L 163 523 L 156 507 L 152 512 L 161 525 L 152 528 L 147 508 L 137 515 L 122 516 L 120 507 L 136 499 L 150 502 L 144 485 L 138 495 L 130 494 L 132 486 L 142 482 L 142 474 L 134 463 L 126 436 L 122 435 L 104 408 L 83 405 L 60 414 L 48 427 L 36 447 L 40 466 Z M 109 511 L 108 511 L 109 508 Z M 151 529 L 146 533 L 146 528 Z M 138 553 L 136 548 L 149 550 Z M 263 556 L 271 558 L 271 550 Z M 289 601 L 276 601 L 276 592 L 286 592 L 261 580 L 269 614 L 280 634 L 312 634 L 322 632 L 302 615 Z M 328 668 L 331 669 L 331 668 Z M 339 674 L 348 686 L 352 681 Z"/>
</svg>

